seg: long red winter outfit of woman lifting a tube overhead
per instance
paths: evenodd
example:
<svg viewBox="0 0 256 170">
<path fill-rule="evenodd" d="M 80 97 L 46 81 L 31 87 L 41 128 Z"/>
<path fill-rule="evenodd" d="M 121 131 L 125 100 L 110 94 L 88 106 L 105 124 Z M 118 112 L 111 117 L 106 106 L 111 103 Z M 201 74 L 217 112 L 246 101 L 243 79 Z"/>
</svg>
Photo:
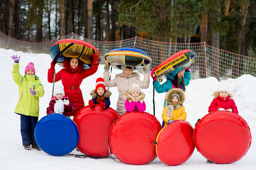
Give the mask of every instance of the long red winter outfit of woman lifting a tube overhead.
<svg viewBox="0 0 256 170">
<path fill-rule="evenodd" d="M 70 65 L 71 58 L 66 58 L 63 62 L 64 69 L 61 69 L 56 73 L 55 82 L 61 80 L 65 96 L 68 96 L 69 102 L 75 105 L 75 110 L 70 114 L 70 116 L 75 116 L 81 108 L 84 108 L 84 99 L 82 97 L 82 91 L 80 89 L 80 84 L 82 80 L 90 75 L 93 75 L 98 70 L 99 63 L 94 65 L 90 69 L 84 70 L 84 63 L 79 61 L 79 66 L 73 69 Z M 48 82 L 53 83 L 54 69 L 48 70 Z"/>
</svg>

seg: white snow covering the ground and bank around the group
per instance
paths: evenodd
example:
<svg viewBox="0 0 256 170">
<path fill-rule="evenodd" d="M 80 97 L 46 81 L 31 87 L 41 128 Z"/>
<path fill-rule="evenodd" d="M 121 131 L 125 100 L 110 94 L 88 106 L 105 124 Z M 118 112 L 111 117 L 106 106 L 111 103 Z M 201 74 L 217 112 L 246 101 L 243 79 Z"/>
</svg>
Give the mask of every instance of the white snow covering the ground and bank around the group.
<svg viewBox="0 0 256 170">
<path fill-rule="evenodd" d="M 111 158 L 90 159 L 75 158 L 73 156 L 51 156 L 43 151 L 24 150 L 20 135 L 20 119 L 14 113 L 14 109 L 18 100 L 18 86 L 14 83 L 11 71 L 13 69 L 13 59 L 10 56 L 17 54 L 20 57 L 20 73 L 24 74 L 24 69 L 28 62 L 35 63 L 36 75 L 39 76 L 45 95 L 40 98 L 40 116 L 39 119 L 46 116 L 46 108 L 52 95 L 52 84 L 47 82 L 47 70 L 49 69 L 51 57 L 47 54 L 31 54 L 23 52 L 15 52 L 14 50 L 0 49 L 0 68 L 1 68 L 1 118 L 0 118 L 0 169 L 255 169 L 256 168 L 256 146 L 254 137 L 256 135 L 256 104 L 254 97 L 256 96 L 256 78 L 251 75 L 242 75 L 237 79 L 228 79 L 231 94 L 238 107 L 239 115 L 242 116 L 250 127 L 252 135 L 252 143 L 249 151 L 241 160 L 232 164 L 209 164 L 206 159 L 196 150 L 187 162 L 169 167 L 158 158 L 151 163 L 145 165 L 129 165 L 115 162 Z M 102 54 L 103 55 L 103 54 Z M 86 78 L 81 84 L 84 95 L 85 104 L 91 98 L 90 91 L 95 88 L 96 79 L 103 76 L 104 65 L 100 65 L 96 74 Z M 61 69 L 56 66 L 56 71 Z M 120 70 L 113 69 L 112 78 Z M 143 76 L 143 75 L 142 75 Z M 93 82 L 93 83 L 89 83 Z M 59 83 L 59 82 L 58 82 Z M 208 107 L 213 99 L 213 92 L 217 89 L 219 82 L 216 78 L 210 77 L 205 79 L 191 80 L 186 87 L 185 92 L 185 110 L 188 114 L 187 121 L 195 127 L 198 118 L 208 113 Z M 142 90 L 146 94 L 146 112 L 153 114 L 152 107 L 152 80 L 150 87 Z M 110 107 L 115 109 L 117 102 L 117 88 L 109 89 L 112 91 Z M 156 118 L 162 122 L 162 109 L 165 94 L 155 93 Z M 81 154 L 72 151 L 72 154 Z"/>
</svg>

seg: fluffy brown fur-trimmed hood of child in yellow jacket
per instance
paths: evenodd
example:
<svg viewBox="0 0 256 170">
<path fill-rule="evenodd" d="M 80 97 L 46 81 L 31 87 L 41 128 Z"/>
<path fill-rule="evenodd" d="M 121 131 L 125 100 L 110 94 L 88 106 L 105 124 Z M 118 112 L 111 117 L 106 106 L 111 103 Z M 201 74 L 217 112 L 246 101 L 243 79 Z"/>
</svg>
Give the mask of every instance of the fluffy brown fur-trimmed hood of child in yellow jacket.
<svg viewBox="0 0 256 170">
<path fill-rule="evenodd" d="M 171 100 L 171 97 L 174 94 L 178 94 L 180 96 L 180 100 L 177 102 L 176 105 L 174 105 L 174 103 Z M 172 88 L 166 94 L 166 103 L 169 105 L 172 105 L 173 107 L 183 104 L 184 101 L 185 101 L 185 94 L 184 94 L 183 90 L 181 90 L 180 88 Z"/>
</svg>

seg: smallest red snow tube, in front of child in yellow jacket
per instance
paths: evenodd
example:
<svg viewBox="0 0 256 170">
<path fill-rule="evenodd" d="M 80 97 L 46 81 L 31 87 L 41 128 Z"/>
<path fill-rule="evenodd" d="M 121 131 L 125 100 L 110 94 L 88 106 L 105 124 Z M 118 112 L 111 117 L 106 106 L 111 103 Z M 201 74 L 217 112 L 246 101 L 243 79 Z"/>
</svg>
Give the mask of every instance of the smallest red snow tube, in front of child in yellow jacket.
<svg viewBox="0 0 256 170">
<path fill-rule="evenodd" d="M 167 165 L 179 165 L 186 162 L 193 151 L 193 128 L 184 120 L 176 120 L 164 127 L 156 139 L 156 154 Z"/>
</svg>

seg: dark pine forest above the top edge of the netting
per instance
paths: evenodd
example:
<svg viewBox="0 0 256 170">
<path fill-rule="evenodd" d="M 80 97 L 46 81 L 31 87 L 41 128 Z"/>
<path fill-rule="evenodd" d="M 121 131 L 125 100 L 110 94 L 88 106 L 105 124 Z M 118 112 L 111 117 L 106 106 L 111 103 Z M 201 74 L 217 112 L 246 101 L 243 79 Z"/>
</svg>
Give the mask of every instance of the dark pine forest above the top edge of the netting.
<svg viewBox="0 0 256 170">
<path fill-rule="evenodd" d="M 43 42 L 76 33 L 96 41 L 142 37 L 206 42 L 256 58 L 253 0 L 1 0 L 0 31 Z"/>
</svg>

